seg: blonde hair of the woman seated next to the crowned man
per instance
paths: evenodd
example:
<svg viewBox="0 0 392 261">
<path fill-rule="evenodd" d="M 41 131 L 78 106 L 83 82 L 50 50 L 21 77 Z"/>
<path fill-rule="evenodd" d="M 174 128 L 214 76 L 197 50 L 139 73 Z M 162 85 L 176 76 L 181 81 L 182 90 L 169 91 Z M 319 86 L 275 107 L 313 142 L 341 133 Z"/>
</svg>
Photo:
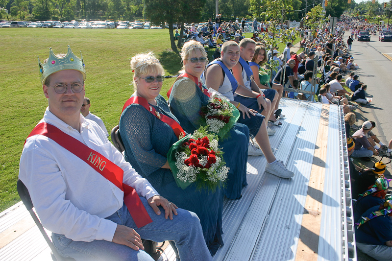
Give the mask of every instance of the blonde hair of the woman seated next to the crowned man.
<svg viewBox="0 0 392 261">
<path fill-rule="evenodd" d="M 161 63 L 155 54 L 152 52 L 139 53 L 132 57 L 131 59 L 131 69 L 135 73 L 134 76 L 139 78 L 142 75 L 148 74 L 165 74 Z M 136 82 L 133 80 L 134 89 L 136 90 Z"/>
</svg>

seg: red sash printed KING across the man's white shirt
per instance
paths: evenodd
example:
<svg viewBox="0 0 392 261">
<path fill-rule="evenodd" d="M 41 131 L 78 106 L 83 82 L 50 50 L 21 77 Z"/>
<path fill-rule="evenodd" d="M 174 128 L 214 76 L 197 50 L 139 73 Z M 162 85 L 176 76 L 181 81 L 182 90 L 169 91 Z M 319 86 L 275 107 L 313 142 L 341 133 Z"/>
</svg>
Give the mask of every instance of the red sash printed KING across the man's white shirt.
<svg viewBox="0 0 392 261">
<path fill-rule="evenodd" d="M 53 140 L 90 165 L 104 178 L 122 190 L 124 192 L 124 203 L 138 228 L 152 222 L 136 190 L 123 184 L 124 171 L 121 167 L 106 159 L 102 154 L 46 122 L 42 122 L 35 126 L 27 138 L 33 135 L 43 135 Z"/>
</svg>

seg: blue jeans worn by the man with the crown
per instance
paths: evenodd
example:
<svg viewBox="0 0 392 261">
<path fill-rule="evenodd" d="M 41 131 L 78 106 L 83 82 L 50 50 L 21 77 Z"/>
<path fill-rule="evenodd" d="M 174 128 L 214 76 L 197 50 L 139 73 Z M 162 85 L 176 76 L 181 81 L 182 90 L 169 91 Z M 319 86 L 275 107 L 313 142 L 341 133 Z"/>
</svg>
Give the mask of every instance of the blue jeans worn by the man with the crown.
<svg viewBox="0 0 392 261">
<path fill-rule="evenodd" d="M 212 260 L 204 241 L 200 220 L 195 213 L 177 209 L 178 215 L 173 216 L 173 220 L 165 219 L 165 211 L 162 207 L 159 207 L 161 214 L 157 215 L 148 205 L 145 197 L 140 197 L 140 199 L 151 217 L 152 223 L 137 228 L 125 204 L 106 219 L 133 228 L 143 239 L 156 242 L 173 240 L 181 260 Z M 52 241 L 60 254 L 76 261 L 153 261 L 143 250 L 136 251 L 128 246 L 106 240 L 73 241 L 64 235 L 52 233 Z"/>
</svg>

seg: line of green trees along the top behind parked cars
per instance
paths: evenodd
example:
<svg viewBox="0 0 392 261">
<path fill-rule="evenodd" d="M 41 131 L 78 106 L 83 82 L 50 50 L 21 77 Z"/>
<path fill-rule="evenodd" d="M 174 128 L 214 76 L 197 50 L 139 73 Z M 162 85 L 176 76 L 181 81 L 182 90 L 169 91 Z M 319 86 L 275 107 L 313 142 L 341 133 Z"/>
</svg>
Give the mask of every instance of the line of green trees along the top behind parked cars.
<svg viewBox="0 0 392 261">
<path fill-rule="evenodd" d="M 219 12 L 224 21 L 241 20 L 243 17 L 266 20 L 266 12 L 270 4 L 278 5 L 280 20 L 299 21 L 306 17 L 306 13 L 319 5 L 322 0 L 279 0 L 279 4 L 270 0 L 219 0 Z M 352 1 L 351 6 L 355 5 Z M 168 13 L 176 14 L 174 20 L 185 20 L 190 16 L 191 22 L 205 22 L 209 18 L 215 19 L 215 0 L 0 0 L 0 7 L 9 10 L 7 15 L 0 12 L 0 18 L 8 20 L 60 20 L 74 19 L 89 20 L 125 20 L 148 17 L 148 8 L 154 6 L 152 16 L 161 16 L 160 22 L 168 22 L 164 18 Z M 197 7 L 198 9 L 196 10 Z M 350 4 L 347 0 L 329 0 L 326 16 L 339 17 Z M 186 14 L 190 10 L 196 14 Z M 214 22 L 214 21 L 213 21 Z"/>
</svg>

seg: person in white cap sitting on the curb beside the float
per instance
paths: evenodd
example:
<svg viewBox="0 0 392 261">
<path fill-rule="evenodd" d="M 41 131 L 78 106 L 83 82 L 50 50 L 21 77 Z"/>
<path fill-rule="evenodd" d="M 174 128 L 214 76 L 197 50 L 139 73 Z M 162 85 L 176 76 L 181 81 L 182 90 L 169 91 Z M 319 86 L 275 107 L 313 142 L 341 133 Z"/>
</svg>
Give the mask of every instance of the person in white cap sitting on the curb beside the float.
<svg viewBox="0 0 392 261">
<path fill-rule="evenodd" d="M 352 136 L 355 138 L 355 149 L 351 155 L 353 158 L 366 158 L 373 155 L 377 156 L 378 152 L 370 144 L 367 138 L 367 133 L 370 131 L 372 124 L 370 121 L 365 121 L 362 128 L 357 130 Z"/>
</svg>

